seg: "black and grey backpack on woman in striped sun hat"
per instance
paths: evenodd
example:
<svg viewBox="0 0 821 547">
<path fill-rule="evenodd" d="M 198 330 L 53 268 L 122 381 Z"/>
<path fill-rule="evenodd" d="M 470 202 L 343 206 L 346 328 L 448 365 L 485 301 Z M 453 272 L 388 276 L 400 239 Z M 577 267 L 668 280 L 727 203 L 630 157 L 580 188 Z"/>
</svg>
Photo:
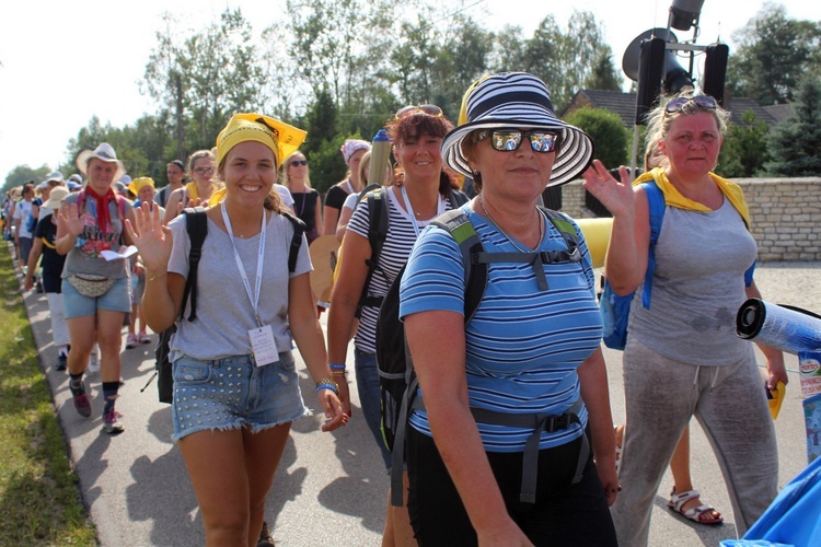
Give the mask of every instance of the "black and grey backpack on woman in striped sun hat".
<svg viewBox="0 0 821 547">
<path fill-rule="evenodd" d="M 446 230 L 459 243 L 462 252 L 462 264 L 465 271 L 464 322 L 471 321 L 485 293 L 490 263 L 531 263 L 536 272 L 536 280 L 541 290 L 547 290 L 544 275 L 544 264 L 567 263 L 581 260 L 578 248 L 579 236 L 574 224 L 564 214 L 551 209 L 540 209 L 546 218 L 562 233 L 567 243 L 567 251 L 543 251 L 532 253 L 487 253 L 479 241 L 476 230 L 467 217 L 459 209 L 453 209 L 438 217 L 431 224 Z M 410 411 L 424 409 L 421 400 L 416 398 L 418 380 L 414 371 L 414 363 L 405 338 L 405 327 L 400 319 L 400 283 L 405 267 L 394 279 L 377 319 L 377 366 L 381 394 L 382 438 L 385 446 L 392 452 L 391 464 L 391 503 L 402 505 L 402 469 L 404 466 L 404 443 L 407 419 Z M 574 407 L 560 416 L 509 415 L 494 412 L 486 409 L 472 408 L 476 421 L 505 426 L 529 427 L 534 434 L 541 432 L 542 421 L 550 420 L 547 427 L 568 427 L 570 422 L 578 422 L 578 410 L 581 408 L 579 399 Z M 564 422 L 563 422 L 564 420 Z M 562 423 L 560 423 L 562 422 Z M 536 447 L 537 447 L 536 437 Z M 587 463 L 589 446 L 585 445 L 579 454 L 576 480 L 581 479 L 581 470 Z M 583 459 L 582 459 L 583 457 Z M 522 501 L 532 503 L 535 497 L 535 462 L 530 475 L 523 476 Z"/>
</svg>

